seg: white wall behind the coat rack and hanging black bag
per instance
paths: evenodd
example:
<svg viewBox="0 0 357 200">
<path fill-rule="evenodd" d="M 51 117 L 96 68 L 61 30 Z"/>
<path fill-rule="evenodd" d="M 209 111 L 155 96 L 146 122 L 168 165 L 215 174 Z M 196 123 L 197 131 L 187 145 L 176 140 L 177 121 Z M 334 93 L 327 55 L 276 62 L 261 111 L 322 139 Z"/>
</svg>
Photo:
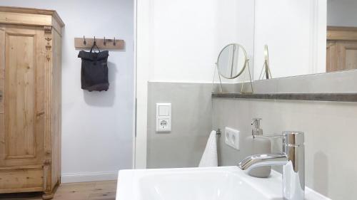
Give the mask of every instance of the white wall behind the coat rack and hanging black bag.
<svg viewBox="0 0 357 200">
<path fill-rule="evenodd" d="M 66 26 L 62 49 L 62 181 L 115 179 L 132 165 L 134 126 L 134 2 L 1 0 L 1 6 L 58 11 Z M 107 92 L 81 90 L 81 60 L 74 38 L 124 39 L 109 52 Z"/>
</svg>

